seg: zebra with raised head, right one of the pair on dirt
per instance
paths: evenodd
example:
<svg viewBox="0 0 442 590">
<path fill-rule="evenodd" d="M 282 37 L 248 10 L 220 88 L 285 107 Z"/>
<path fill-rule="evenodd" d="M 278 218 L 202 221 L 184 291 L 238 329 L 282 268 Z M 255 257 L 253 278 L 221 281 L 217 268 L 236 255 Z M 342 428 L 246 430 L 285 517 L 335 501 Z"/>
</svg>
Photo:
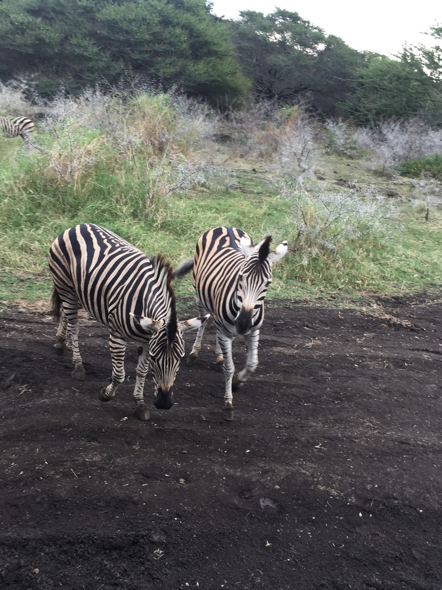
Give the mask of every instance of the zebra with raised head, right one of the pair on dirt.
<svg viewBox="0 0 442 590">
<path fill-rule="evenodd" d="M 264 298 L 272 282 L 272 266 L 287 252 L 284 241 L 271 251 L 271 235 L 253 245 L 249 235 L 233 227 L 206 231 L 188 258 L 172 273 L 183 276 L 193 268 L 193 286 L 200 314 L 210 313 L 216 326 L 215 356 L 226 381 L 225 419 L 233 419 L 232 391 L 238 391 L 258 366 L 259 329 L 264 319 Z M 199 328 L 187 364 L 196 362 L 205 324 Z M 246 365 L 234 376 L 232 341 L 243 336 Z"/>
</svg>

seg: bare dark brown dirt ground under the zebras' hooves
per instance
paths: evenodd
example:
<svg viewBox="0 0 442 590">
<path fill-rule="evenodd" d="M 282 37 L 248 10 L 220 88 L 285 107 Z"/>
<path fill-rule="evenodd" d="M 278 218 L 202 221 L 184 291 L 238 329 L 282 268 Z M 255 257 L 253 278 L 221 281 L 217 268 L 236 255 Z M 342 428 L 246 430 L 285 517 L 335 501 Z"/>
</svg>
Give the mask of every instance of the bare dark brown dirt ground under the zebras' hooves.
<svg viewBox="0 0 442 590">
<path fill-rule="evenodd" d="M 382 305 L 271 303 L 233 422 L 212 326 L 176 405 L 156 410 L 149 381 L 140 422 L 136 346 L 102 404 L 105 327 L 83 320 L 72 381 L 55 324 L 3 309 L 0 586 L 440 590 L 442 303 Z"/>
</svg>

